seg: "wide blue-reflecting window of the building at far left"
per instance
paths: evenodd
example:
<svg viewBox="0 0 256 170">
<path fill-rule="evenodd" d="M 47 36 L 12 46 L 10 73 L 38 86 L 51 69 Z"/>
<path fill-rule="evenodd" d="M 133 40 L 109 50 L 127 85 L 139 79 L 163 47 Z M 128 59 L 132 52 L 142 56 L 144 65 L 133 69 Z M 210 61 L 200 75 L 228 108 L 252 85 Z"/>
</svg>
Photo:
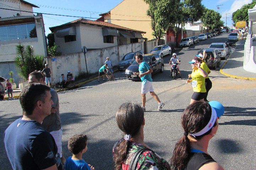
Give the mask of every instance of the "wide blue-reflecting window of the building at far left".
<svg viewBox="0 0 256 170">
<path fill-rule="evenodd" d="M 35 23 L 0 27 L 0 41 L 37 38 Z"/>
</svg>

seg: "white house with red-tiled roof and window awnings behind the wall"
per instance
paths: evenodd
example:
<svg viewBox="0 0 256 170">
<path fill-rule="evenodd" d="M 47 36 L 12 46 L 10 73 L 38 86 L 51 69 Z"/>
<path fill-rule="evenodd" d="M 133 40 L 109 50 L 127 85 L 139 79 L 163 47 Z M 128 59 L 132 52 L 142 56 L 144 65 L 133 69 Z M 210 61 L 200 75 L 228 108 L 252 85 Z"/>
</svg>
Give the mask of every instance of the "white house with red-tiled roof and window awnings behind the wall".
<svg viewBox="0 0 256 170">
<path fill-rule="evenodd" d="M 102 49 L 143 41 L 146 32 L 121 27 L 112 23 L 84 18 L 49 28 L 54 33 L 58 51 L 63 55 L 88 50 Z"/>
</svg>

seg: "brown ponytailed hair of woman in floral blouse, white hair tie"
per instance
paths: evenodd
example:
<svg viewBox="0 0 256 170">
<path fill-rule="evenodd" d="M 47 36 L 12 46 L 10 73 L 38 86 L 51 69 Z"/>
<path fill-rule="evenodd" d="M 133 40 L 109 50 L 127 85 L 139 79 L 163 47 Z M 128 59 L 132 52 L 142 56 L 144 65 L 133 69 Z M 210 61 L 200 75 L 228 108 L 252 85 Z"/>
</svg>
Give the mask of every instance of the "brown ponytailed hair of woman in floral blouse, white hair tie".
<svg viewBox="0 0 256 170">
<path fill-rule="evenodd" d="M 138 133 L 144 119 L 144 112 L 140 105 L 124 103 L 116 112 L 116 123 L 124 134 L 133 137 Z M 130 141 L 122 140 L 114 150 L 115 170 L 120 170 L 122 162 L 126 159 Z"/>
</svg>

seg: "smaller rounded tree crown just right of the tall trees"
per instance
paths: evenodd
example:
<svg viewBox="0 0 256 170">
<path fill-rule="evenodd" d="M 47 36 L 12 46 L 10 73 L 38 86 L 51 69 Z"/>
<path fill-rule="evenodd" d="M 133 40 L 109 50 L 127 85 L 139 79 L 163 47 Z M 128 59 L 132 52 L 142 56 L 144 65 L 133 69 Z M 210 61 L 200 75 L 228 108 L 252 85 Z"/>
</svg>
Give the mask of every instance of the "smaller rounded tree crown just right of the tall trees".
<svg viewBox="0 0 256 170">
<path fill-rule="evenodd" d="M 221 21 L 220 18 L 220 13 L 205 8 L 201 21 L 203 22 L 203 25 L 208 29 L 214 29 L 223 26 L 224 22 Z"/>
</svg>

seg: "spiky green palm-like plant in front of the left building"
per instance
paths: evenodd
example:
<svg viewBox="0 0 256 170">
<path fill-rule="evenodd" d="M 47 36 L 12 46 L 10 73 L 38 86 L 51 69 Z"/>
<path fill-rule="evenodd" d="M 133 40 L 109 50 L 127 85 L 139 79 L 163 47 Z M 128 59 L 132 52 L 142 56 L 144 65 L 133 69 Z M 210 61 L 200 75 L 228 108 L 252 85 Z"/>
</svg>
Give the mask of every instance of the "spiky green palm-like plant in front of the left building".
<svg viewBox="0 0 256 170">
<path fill-rule="evenodd" d="M 17 56 L 14 62 L 18 67 L 19 75 L 25 80 L 28 80 L 29 73 L 44 68 L 44 56 L 35 56 L 33 46 L 24 47 L 24 45 L 19 44 L 16 46 L 16 53 Z"/>
</svg>

